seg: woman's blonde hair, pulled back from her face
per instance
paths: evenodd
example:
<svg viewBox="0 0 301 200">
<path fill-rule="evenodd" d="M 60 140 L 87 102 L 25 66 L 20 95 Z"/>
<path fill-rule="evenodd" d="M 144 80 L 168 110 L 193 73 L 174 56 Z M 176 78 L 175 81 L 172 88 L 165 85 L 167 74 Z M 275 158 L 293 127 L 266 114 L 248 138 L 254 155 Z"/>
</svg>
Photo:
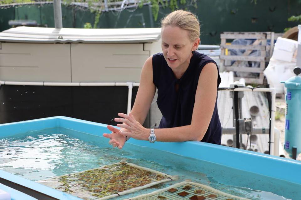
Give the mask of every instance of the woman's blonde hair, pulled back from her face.
<svg viewBox="0 0 301 200">
<path fill-rule="evenodd" d="M 197 17 L 188 11 L 176 10 L 161 20 L 161 27 L 177 26 L 189 32 L 189 39 L 194 41 L 200 37 L 200 22 Z"/>
</svg>

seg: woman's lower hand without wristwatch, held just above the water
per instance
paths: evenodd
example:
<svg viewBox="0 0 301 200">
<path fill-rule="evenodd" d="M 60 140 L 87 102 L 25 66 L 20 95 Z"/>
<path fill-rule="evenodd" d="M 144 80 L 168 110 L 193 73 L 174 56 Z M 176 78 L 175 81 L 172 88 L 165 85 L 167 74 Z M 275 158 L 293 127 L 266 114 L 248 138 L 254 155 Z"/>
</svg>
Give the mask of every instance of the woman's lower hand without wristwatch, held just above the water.
<svg viewBox="0 0 301 200">
<path fill-rule="evenodd" d="M 112 131 L 112 133 L 103 133 L 103 137 L 109 138 L 109 144 L 111 144 L 114 148 L 123 148 L 124 143 L 126 142 L 126 137 L 119 133 L 120 130 L 118 128 L 114 128 L 110 125 L 108 125 L 107 128 Z"/>
</svg>

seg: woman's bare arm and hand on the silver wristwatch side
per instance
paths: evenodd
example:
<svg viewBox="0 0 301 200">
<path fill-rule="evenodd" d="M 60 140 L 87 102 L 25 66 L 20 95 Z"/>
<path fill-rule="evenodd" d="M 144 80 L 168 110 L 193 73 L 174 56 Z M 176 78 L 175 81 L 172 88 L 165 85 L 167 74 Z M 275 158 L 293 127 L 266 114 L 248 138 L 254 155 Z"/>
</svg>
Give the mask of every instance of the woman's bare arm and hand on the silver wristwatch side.
<svg viewBox="0 0 301 200">
<path fill-rule="evenodd" d="M 183 142 L 203 139 L 214 111 L 217 95 L 217 77 L 218 70 L 214 63 L 208 63 L 203 67 L 198 80 L 191 124 L 176 128 L 155 129 L 157 141 Z M 152 92 L 154 92 L 154 90 Z M 136 100 L 137 99 L 139 98 L 136 98 Z M 144 101 L 146 100 L 144 99 Z M 149 99 L 149 105 L 150 102 L 151 100 Z M 137 102 L 136 105 L 139 105 L 139 103 Z M 137 106 L 136 108 L 140 107 Z M 147 111 L 148 109 L 149 107 L 147 107 Z M 115 121 L 124 123 L 118 124 L 117 126 L 127 129 L 127 131 L 120 131 L 119 133 L 139 140 L 148 140 L 150 129 L 142 127 L 140 122 L 141 120 L 144 121 L 145 118 L 138 117 L 144 116 L 144 114 L 146 116 L 146 113 L 139 115 L 139 113 L 137 114 L 138 110 L 143 109 L 134 110 L 133 108 L 134 113 L 132 115 L 119 113 L 119 116 L 123 118 L 115 118 Z M 137 118 L 137 120 L 135 120 L 135 118 Z"/>
</svg>

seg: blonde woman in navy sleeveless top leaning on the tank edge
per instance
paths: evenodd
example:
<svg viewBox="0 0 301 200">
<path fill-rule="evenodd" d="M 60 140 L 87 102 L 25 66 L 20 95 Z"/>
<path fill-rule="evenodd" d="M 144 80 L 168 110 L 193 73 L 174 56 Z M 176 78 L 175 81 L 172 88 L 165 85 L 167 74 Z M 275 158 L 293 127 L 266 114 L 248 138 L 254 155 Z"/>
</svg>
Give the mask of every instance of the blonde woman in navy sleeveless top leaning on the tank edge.
<svg viewBox="0 0 301 200">
<path fill-rule="evenodd" d="M 142 68 L 140 86 L 129 115 L 119 113 L 117 127 L 108 125 L 109 144 L 121 149 L 129 138 L 150 142 L 203 141 L 220 144 L 221 125 L 217 112 L 217 88 L 221 79 L 217 64 L 196 52 L 200 25 L 183 10 L 167 15 L 161 22 L 163 53 L 148 58 Z M 163 117 L 158 129 L 142 124 L 156 88 L 157 104 Z"/>
</svg>

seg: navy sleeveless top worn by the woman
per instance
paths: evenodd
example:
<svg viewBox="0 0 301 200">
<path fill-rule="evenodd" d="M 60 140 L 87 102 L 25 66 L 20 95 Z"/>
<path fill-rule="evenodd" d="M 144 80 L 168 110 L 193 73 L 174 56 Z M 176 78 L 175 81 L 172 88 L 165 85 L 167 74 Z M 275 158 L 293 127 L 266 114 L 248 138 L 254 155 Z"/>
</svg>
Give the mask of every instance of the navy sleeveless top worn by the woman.
<svg viewBox="0 0 301 200">
<path fill-rule="evenodd" d="M 153 55 L 152 61 L 153 82 L 158 89 L 157 104 L 163 115 L 159 128 L 173 128 L 190 125 L 200 73 L 207 63 L 215 63 L 214 60 L 204 54 L 194 51 L 189 66 L 180 79 L 175 77 L 162 53 Z M 218 87 L 221 82 L 219 73 L 217 82 Z M 175 89 L 176 84 L 178 84 L 178 91 Z M 216 95 L 213 115 L 207 132 L 201 141 L 220 144 L 221 132 Z"/>
</svg>

